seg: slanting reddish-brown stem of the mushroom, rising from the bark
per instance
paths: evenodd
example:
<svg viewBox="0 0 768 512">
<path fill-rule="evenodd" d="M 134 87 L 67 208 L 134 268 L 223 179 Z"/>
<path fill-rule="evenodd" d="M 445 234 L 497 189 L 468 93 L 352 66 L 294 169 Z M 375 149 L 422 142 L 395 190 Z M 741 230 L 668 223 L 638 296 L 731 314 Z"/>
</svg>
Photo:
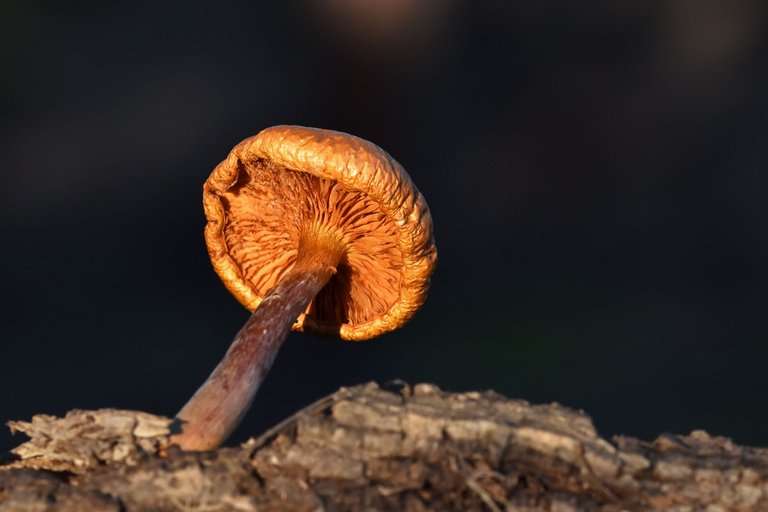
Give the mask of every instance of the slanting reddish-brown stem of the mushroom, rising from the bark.
<svg viewBox="0 0 768 512">
<path fill-rule="evenodd" d="M 237 333 L 224 359 L 176 415 L 182 432 L 171 443 L 212 450 L 237 427 L 269 372 L 296 318 L 336 273 L 338 244 L 305 237 L 296 264 L 264 297 Z"/>
</svg>

